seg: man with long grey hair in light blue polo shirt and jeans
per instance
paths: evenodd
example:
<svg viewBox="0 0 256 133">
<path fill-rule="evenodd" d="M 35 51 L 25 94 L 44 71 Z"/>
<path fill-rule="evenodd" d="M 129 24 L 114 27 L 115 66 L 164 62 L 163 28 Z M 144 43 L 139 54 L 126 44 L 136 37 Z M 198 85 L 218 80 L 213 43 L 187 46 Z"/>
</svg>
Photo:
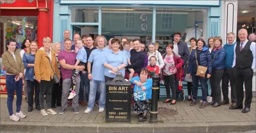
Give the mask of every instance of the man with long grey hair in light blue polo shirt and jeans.
<svg viewBox="0 0 256 133">
<path fill-rule="evenodd" d="M 105 99 L 106 99 L 106 87 L 104 78 L 104 67 L 102 65 L 102 57 L 104 57 L 106 50 L 104 44 L 106 38 L 104 36 L 98 36 L 97 39 L 98 48 L 93 50 L 88 59 L 87 71 L 88 79 L 90 80 L 90 92 L 88 106 L 85 113 L 90 113 L 93 110 L 97 88 L 100 88 L 100 99 L 99 99 L 99 112 L 104 111 Z M 91 63 L 93 62 L 92 71 Z"/>
</svg>

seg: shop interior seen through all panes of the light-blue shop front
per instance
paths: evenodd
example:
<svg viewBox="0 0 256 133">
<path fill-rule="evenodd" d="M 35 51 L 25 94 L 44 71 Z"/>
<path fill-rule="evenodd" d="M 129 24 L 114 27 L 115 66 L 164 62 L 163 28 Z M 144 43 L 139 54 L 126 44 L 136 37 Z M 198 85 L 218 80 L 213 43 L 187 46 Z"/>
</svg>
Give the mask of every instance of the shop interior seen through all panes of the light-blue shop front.
<svg viewBox="0 0 256 133">
<path fill-rule="evenodd" d="M 71 8 L 71 22 L 98 22 L 98 8 Z M 143 43 L 152 41 L 153 8 L 102 7 L 102 35 L 107 39 L 127 37 L 139 38 Z M 172 43 L 173 33 L 182 33 L 182 41 L 189 43 L 192 37 L 206 37 L 207 10 L 192 8 L 156 8 L 156 42 L 159 52 L 165 52 L 165 45 Z M 73 34 L 97 35 L 98 26 L 73 26 Z"/>
</svg>

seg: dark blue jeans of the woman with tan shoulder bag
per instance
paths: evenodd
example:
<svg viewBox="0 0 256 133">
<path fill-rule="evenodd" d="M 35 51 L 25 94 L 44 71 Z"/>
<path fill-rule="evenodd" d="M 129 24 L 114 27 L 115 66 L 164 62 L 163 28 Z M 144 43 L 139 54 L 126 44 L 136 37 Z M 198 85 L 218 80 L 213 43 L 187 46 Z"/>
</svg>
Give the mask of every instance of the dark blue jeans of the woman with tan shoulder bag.
<svg viewBox="0 0 256 133">
<path fill-rule="evenodd" d="M 202 78 L 202 77 L 199 77 L 199 76 L 196 76 L 196 72 L 192 72 L 191 74 L 192 76 L 192 81 L 193 81 L 193 89 L 192 89 L 192 92 L 193 92 L 193 99 L 197 99 L 197 92 L 198 92 L 198 83 L 199 83 L 199 79 L 200 79 L 200 83 L 201 83 L 201 89 L 202 89 L 202 100 L 204 102 L 207 101 L 207 78 Z"/>
</svg>

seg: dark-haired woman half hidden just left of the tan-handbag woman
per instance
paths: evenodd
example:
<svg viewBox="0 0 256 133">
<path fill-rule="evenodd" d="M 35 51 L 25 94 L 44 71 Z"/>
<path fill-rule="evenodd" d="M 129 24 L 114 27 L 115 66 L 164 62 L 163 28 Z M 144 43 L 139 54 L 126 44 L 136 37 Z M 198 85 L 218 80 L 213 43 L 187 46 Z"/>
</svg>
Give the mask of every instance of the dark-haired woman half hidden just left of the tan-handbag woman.
<svg viewBox="0 0 256 133">
<path fill-rule="evenodd" d="M 196 40 L 196 38 L 191 38 L 189 40 L 189 42 L 190 42 L 190 47 L 188 47 L 188 51 L 189 51 L 189 56 L 190 56 L 192 50 L 196 49 L 197 40 Z M 191 79 L 191 77 L 188 78 L 188 73 L 187 73 L 187 71 L 188 71 L 188 62 L 189 62 L 189 60 L 185 64 L 185 71 L 184 71 L 184 73 L 186 73 L 186 75 L 185 75 L 185 79 L 184 80 L 187 81 L 187 85 L 188 85 L 188 100 L 192 100 L 193 99 L 192 96 L 191 96 L 191 94 L 193 93 L 192 92 L 192 79 Z"/>
</svg>

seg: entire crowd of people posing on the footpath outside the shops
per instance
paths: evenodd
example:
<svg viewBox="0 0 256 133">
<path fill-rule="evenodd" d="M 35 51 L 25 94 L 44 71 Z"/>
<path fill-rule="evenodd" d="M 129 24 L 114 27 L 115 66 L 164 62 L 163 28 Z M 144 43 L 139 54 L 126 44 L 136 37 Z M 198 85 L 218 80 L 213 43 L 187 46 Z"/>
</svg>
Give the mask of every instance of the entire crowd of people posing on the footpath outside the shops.
<svg viewBox="0 0 256 133">
<path fill-rule="evenodd" d="M 116 73 L 122 73 L 125 79 L 134 84 L 131 106 L 133 112 L 138 113 L 139 122 L 147 119 L 151 109 L 151 76 L 154 74 L 159 75 L 166 88 L 167 99 L 163 103 L 174 105 L 179 96 L 182 101 L 185 100 L 185 91 L 180 85 L 181 77 L 185 76 L 190 106 L 198 103 L 199 81 L 202 88 L 199 108 L 229 104 L 230 82 L 229 109 L 243 109 L 242 113 L 247 113 L 250 111 L 253 70 L 256 68 L 256 44 L 253 42 L 255 35 L 250 35 L 250 40 L 247 36 L 247 30 L 240 29 L 240 41 L 236 42 L 236 35 L 230 32 L 227 34 L 228 43 L 224 46 L 220 37 L 208 38 L 207 44 L 203 38 L 191 38 L 188 47 L 181 41 L 181 34 L 175 32 L 174 42 L 166 45 L 166 53 L 163 55 L 157 50 L 158 43 L 146 45 L 139 39 L 128 40 L 125 37 L 107 41 L 102 35 L 95 38 L 83 35 L 80 38 L 79 34 L 75 34 L 74 41 L 71 41 L 68 30 L 64 31 L 64 40 L 59 43 L 52 44 L 50 38 L 43 38 L 41 48 L 38 48 L 37 42 L 25 39 L 20 53 L 15 51 L 16 40 L 9 39 L 6 41 L 8 51 L 2 55 L 2 63 L 6 68 L 7 108 L 10 119 L 19 121 L 26 117 L 20 109 L 23 80 L 28 112 L 33 111 L 35 103 L 35 109 L 43 116 L 57 114 L 54 111 L 56 106 L 61 106 L 58 114 L 65 113 L 68 106 L 72 106 L 74 113 L 78 114 L 79 104 L 86 107 L 84 113 L 93 111 L 94 105 L 99 107 L 99 112 L 104 111 L 105 83 L 114 79 Z M 56 83 L 54 78 L 60 79 L 60 82 Z M 211 95 L 208 92 L 209 80 Z M 14 91 L 17 96 L 16 114 L 13 113 Z"/>
</svg>

